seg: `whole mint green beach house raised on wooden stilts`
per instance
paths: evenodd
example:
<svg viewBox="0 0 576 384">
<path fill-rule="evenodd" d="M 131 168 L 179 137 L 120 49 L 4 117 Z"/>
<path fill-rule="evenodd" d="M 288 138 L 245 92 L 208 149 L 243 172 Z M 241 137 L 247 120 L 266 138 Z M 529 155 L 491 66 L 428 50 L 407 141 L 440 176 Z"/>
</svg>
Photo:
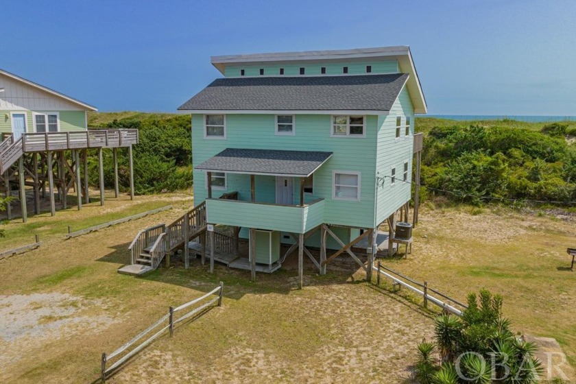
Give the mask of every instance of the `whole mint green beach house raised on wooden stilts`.
<svg viewBox="0 0 576 384">
<path fill-rule="evenodd" d="M 178 108 L 192 115 L 195 206 L 206 210 L 212 256 L 225 253 L 214 238 L 230 226 L 248 240 L 248 259 L 224 262 L 252 278 L 297 249 L 300 287 L 304 254 L 324 274 L 348 252 L 370 278 L 377 228 L 410 200 L 414 114 L 427 112 L 409 47 L 212 64 L 224 77 Z M 368 266 L 351 250 L 360 241 Z"/>
</svg>

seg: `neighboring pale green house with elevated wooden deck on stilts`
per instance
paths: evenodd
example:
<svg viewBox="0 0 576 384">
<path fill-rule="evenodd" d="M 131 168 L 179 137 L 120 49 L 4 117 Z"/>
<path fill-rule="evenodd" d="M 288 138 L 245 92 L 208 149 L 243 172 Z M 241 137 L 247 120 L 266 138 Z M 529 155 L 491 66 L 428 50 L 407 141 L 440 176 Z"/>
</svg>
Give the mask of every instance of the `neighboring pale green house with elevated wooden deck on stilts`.
<svg viewBox="0 0 576 384">
<path fill-rule="evenodd" d="M 112 149 L 118 195 L 116 149 L 128 148 L 133 191 L 132 145 L 139 141 L 138 131 L 88 130 L 86 112 L 91 110 L 96 108 L 0 70 L 0 116 L 3 116 L 0 119 L 0 185 L 5 195 L 12 195 L 15 189 L 19 191 L 23 221 L 27 220 L 26 187 L 32 187 L 35 213 L 40 213 L 41 197 L 50 201 L 52 215 L 56 212 L 56 197 L 62 208 L 67 208 L 67 195 L 72 187 L 77 193 L 79 209 L 83 200 L 89 202 L 88 149 L 99 152 L 101 204 L 104 204 L 102 149 Z M 12 218 L 12 204 L 8 204 L 7 217 Z"/>
</svg>

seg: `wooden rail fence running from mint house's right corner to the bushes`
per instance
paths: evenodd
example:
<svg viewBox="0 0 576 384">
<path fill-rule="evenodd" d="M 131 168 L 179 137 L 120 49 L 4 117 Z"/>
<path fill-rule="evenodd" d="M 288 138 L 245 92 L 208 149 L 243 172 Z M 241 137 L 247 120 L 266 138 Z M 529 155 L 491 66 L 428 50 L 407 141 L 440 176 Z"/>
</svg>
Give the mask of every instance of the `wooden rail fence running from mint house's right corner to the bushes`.
<svg viewBox="0 0 576 384">
<path fill-rule="evenodd" d="M 410 289 L 411 291 L 417 293 L 419 296 L 422 296 L 422 298 L 424 300 L 424 308 L 427 308 L 428 302 L 431 302 L 431 303 L 437 305 L 438 307 L 442 308 L 442 310 L 444 310 L 446 312 L 453 313 L 457 316 L 462 315 L 462 310 L 456 308 L 453 304 L 456 304 L 457 306 L 461 307 L 462 309 L 468 308 L 465 304 L 462 304 L 461 302 L 454 300 L 450 296 L 446 296 L 444 293 L 440 293 L 439 291 L 428 287 L 428 283 L 426 281 L 424 281 L 424 283 L 420 283 L 419 281 L 413 280 L 412 278 L 409 278 L 408 276 L 404 276 L 403 274 L 399 274 L 398 272 L 394 271 L 393 269 L 389 269 L 389 268 L 381 265 L 380 261 L 378 262 L 378 266 L 377 267 L 372 266 L 372 269 L 374 269 L 376 272 L 378 272 L 378 274 L 376 275 L 376 279 L 377 279 L 376 282 L 378 285 L 380 285 L 380 276 L 381 275 L 385 276 L 385 277 L 389 278 L 390 280 L 392 280 L 395 285 L 397 284 L 401 287 L 406 287 L 407 289 Z M 404 280 L 407 280 L 412 285 L 409 283 L 406 283 L 406 281 L 404 281 Z M 414 285 L 417 285 L 418 287 L 420 287 L 422 289 L 418 289 L 418 288 L 414 287 Z M 435 298 L 434 296 L 431 296 L 429 291 L 436 293 L 437 296 L 440 296 L 447 301 L 444 302 L 438 298 Z"/>
</svg>

